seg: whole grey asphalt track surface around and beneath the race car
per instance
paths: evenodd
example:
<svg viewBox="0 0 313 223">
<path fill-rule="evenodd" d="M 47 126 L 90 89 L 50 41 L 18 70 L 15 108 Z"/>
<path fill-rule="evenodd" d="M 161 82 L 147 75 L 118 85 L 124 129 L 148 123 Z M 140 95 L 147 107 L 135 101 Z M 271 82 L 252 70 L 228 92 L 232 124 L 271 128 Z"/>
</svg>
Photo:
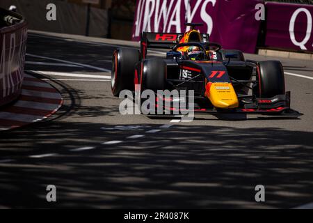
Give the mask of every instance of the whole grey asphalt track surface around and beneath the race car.
<svg viewBox="0 0 313 223">
<path fill-rule="evenodd" d="M 309 77 L 286 75 L 291 107 L 304 114 L 299 118 L 206 114 L 177 123 L 119 113 L 106 72 L 115 45 L 138 46 L 30 33 L 26 70 L 61 91 L 64 105 L 46 121 L 0 133 L 0 208 L 294 208 L 313 202 L 312 61 L 280 59 L 285 72 Z M 47 185 L 56 185 L 57 202 L 46 201 Z M 255 201 L 256 185 L 265 186 L 266 202 Z"/>
</svg>

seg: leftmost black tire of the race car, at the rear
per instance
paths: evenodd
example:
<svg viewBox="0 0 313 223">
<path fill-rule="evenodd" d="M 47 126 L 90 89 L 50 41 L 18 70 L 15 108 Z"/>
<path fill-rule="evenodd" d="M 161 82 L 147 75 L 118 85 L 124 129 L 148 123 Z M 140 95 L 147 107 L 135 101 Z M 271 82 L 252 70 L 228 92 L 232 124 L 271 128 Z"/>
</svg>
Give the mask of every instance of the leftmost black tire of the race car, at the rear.
<svg viewBox="0 0 313 223">
<path fill-rule="evenodd" d="M 125 89 L 134 91 L 134 69 L 139 60 L 140 52 L 137 49 L 115 50 L 111 71 L 111 90 L 114 96 Z"/>
</svg>

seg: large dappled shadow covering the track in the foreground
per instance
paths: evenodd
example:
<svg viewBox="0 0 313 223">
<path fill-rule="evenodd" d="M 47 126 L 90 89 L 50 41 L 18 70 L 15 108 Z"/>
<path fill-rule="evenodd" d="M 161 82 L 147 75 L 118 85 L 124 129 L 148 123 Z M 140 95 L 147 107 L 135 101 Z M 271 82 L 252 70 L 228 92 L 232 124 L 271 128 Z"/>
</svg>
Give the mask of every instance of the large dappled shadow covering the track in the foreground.
<svg viewBox="0 0 313 223">
<path fill-rule="evenodd" d="M 138 140 L 126 137 L 142 130 L 102 127 L 114 126 L 56 121 L 1 133 L 1 158 L 15 160 L 0 163 L 1 205 L 292 208 L 312 201 L 311 132 L 177 125 Z M 124 142 L 102 144 L 109 140 Z M 70 151 L 83 146 L 95 149 Z M 25 156 L 43 153 L 58 155 Z M 45 201 L 49 184 L 58 189 L 57 203 Z M 254 200 L 259 184 L 266 203 Z"/>
</svg>

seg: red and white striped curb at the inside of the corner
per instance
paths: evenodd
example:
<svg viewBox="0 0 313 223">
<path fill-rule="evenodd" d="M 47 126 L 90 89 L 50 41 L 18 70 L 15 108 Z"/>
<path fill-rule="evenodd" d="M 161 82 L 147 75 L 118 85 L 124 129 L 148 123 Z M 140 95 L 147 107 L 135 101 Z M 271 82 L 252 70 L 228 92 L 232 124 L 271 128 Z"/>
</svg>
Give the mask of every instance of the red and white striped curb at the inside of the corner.
<svg viewBox="0 0 313 223">
<path fill-rule="evenodd" d="M 0 107 L 0 130 L 42 121 L 56 113 L 62 104 L 62 95 L 53 86 L 25 75 L 18 100 L 13 105 Z"/>
</svg>

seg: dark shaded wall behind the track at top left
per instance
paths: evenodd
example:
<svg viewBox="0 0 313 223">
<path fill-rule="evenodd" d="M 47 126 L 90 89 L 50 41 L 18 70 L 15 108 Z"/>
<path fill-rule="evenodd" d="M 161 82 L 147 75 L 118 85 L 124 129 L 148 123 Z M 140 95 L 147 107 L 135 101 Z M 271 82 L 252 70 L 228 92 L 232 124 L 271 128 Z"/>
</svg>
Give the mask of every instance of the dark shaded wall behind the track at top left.
<svg viewBox="0 0 313 223">
<path fill-rule="evenodd" d="M 56 21 L 46 18 L 47 5 L 56 5 Z M 17 6 L 29 23 L 29 29 L 75 35 L 86 34 L 87 6 L 58 0 L 1 0 L 0 7 Z M 108 33 L 108 10 L 90 8 L 89 36 L 106 37 Z"/>
</svg>

